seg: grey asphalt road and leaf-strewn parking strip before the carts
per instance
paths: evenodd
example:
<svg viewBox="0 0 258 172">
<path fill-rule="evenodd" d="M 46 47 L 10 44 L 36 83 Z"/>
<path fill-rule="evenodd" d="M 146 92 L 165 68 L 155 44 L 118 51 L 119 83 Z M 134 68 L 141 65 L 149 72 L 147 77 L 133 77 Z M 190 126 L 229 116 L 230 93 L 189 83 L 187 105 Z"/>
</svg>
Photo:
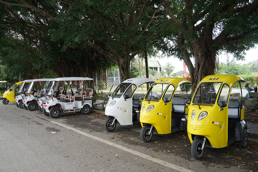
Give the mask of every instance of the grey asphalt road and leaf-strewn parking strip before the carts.
<svg viewBox="0 0 258 172">
<path fill-rule="evenodd" d="M 246 163 L 227 165 L 217 155 L 194 160 L 182 133 L 140 139 L 139 126 L 106 132 L 104 120 L 76 113 L 61 118 L 0 103 L 0 171 L 249 171 Z M 56 132 L 56 133 L 52 133 Z M 164 138 L 165 141 L 162 141 Z M 219 149 L 216 149 L 219 150 Z M 222 148 L 231 151 L 235 148 Z M 244 150 L 234 152 L 246 153 Z M 221 152 L 220 152 L 221 153 Z M 222 152 L 223 153 L 223 152 Z M 215 153 L 217 154 L 217 153 Z M 250 154 L 257 156 L 257 153 Z M 214 158 L 215 156 L 215 158 Z M 232 155 L 226 157 L 232 160 Z M 213 161 L 213 160 L 217 161 Z M 236 159 L 237 161 L 239 159 Z M 224 160 L 225 161 L 225 160 Z M 240 161 L 240 160 L 239 160 Z M 239 163 L 240 164 L 240 163 Z"/>
</svg>

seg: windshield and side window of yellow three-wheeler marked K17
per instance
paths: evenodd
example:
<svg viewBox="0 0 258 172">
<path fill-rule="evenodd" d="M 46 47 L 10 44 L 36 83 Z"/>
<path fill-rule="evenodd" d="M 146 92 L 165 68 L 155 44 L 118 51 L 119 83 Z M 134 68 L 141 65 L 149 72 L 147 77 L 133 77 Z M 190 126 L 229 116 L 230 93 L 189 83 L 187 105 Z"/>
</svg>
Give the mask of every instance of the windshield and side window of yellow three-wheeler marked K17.
<svg viewBox="0 0 258 172">
<path fill-rule="evenodd" d="M 169 85 L 168 83 L 153 84 L 150 87 L 148 93 L 146 94 L 145 99 L 159 101 L 168 85 Z M 174 90 L 175 90 L 175 88 L 172 86 L 170 88 L 170 90 L 168 91 L 167 95 L 168 96 L 173 95 Z"/>
</svg>

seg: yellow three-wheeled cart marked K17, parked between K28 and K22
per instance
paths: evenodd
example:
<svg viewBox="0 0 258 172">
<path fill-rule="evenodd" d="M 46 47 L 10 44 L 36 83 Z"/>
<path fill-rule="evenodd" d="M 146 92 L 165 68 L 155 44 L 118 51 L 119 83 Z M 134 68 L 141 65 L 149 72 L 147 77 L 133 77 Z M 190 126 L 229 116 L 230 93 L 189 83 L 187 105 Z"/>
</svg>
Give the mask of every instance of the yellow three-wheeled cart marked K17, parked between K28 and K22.
<svg viewBox="0 0 258 172">
<path fill-rule="evenodd" d="M 187 94 L 186 97 L 173 96 L 180 85 L 187 88 L 188 84 L 191 83 L 184 78 L 161 78 L 152 84 L 140 111 L 142 141 L 151 141 L 153 131 L 168 134 L 186 130 L 190 99 L 187 99 Z"/>
</svg>

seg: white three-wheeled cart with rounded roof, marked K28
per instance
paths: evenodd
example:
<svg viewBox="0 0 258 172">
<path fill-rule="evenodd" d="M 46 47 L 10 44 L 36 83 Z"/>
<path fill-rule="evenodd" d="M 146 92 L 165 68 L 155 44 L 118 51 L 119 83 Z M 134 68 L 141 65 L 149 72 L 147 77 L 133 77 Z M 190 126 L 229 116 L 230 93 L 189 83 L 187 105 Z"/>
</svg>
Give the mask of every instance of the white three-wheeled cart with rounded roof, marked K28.
<svg viewBox="0 0 258 172">
<path fill-rule="evenodd" d="M 105 110 L 108 118 L 104 127 L 108 132 L 115 130 L 117 122 L 120 125 L 140 124 L 141 98 L 147 92 L 147 84 L 151 85 L 154 82 L 153 79 L 149 78 L 131 78 L 117 86 L 115 91 L 109 95 L 110 98 Z M 137 97 L 138 99 L 134 97 L 136 90 L 142 95 Z"/>
</svg>

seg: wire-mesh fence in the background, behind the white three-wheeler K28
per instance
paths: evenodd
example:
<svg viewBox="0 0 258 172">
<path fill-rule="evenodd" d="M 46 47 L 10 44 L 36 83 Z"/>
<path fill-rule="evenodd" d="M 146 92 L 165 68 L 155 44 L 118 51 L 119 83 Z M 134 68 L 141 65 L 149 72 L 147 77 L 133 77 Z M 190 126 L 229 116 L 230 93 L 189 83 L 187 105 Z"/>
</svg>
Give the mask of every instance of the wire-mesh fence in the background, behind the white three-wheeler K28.
<svg viewBox="0 0 258 172">
<path fill-rule="evenodd" d="M 95 78 L 95 86 L 97 89 L 106 89 L 105 76 Z M 116 88 L 120 84 L 120 73 L 117 69 L 114 73 L 107 74 L 107 89 Z"/>
</svg>

